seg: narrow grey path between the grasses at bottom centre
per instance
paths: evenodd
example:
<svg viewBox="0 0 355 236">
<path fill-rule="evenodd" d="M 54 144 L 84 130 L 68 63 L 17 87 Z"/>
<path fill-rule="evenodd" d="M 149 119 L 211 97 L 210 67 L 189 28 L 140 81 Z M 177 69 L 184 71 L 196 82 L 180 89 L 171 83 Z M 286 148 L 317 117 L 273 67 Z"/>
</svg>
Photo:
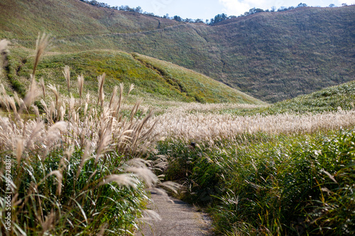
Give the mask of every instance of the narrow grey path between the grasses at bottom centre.
<svg viewBox="0 0 355 236">
<path fill-rule="evenodd" d="M 136 236 L 202 236 L 213 235 L 211 219 L 206 213 L 197 211 L 189 204 L 152 192 L 148 208 L 160 215 L 161 220 L 149 220 L 143 227 L 143 232 Z"/>
</svg>

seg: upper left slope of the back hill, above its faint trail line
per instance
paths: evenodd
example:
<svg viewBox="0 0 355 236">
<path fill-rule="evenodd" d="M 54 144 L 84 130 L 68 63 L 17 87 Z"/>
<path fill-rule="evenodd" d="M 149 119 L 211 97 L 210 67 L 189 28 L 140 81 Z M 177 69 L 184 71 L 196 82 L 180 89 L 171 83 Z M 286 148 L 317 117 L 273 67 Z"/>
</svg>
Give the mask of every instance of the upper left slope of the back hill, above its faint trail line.
<svg viewBox="0 0 355 236">
<path fill-rule="evenodd" d="M 58 40 L 70 36 L 136 33 L 177 25 L 177 21 L 98 8 L 77 0 L 4 0 L 0 3 L 0 38 L 31 40 L 38 31 Z"/>
</svg>

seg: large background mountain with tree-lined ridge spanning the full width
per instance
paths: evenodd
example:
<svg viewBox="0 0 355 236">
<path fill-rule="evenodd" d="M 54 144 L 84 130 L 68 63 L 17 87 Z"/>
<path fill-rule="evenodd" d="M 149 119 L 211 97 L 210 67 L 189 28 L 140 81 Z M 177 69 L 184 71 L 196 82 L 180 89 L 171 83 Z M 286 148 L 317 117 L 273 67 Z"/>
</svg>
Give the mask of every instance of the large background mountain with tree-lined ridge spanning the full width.
<svg viewBox="0 0 355 236">
<path fill-rule="evenodd" d="M 173 62 L 263 101 L 309 94 L 355 79 L 355 6 L 255 13 L 215 26 L 178 23 L 79 0 L 3 0 L 0 37 L 54 50 L 110 49 Z"/>
</svg>

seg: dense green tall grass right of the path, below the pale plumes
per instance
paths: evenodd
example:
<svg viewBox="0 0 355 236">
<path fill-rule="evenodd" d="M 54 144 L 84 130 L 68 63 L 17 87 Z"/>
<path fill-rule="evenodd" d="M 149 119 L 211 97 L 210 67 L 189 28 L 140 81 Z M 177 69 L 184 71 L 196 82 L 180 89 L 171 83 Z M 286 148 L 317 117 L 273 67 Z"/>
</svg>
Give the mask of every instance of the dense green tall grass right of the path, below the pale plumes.
<svg viewBox="0 0 355 236">
<path fill-rule="evenodd" d="M 355 130 L 166 140 L 165 178 L 207 206 L 222 235 L 353 235 Z"/>
</svg>

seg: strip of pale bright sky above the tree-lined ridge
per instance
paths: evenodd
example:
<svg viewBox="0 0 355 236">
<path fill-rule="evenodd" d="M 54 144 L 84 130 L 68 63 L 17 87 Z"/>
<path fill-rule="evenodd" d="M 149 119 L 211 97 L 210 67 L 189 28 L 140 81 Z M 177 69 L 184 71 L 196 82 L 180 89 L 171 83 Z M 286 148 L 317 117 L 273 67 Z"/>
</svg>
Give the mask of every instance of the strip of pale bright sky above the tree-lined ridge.
<svg viewBox="0 0 355 236">
<path fill-rule="evenodd" d="M 180 16 L 181 18 L 200 18 L 202 20 L 214 18 L 219 13 L 226 13 L 228 16 L 240 16 L 253 7 L 257 9 L 271 9 L 275 6 L 342 6 L 342 4 L 355 4 L 355 0 L 97 0 L 110 6 L 130 6 L 135 8 L 141 6 L 143 11 L 154 13 L 158 16 L 169 14 L 170 17 Z"/>
</svg>

